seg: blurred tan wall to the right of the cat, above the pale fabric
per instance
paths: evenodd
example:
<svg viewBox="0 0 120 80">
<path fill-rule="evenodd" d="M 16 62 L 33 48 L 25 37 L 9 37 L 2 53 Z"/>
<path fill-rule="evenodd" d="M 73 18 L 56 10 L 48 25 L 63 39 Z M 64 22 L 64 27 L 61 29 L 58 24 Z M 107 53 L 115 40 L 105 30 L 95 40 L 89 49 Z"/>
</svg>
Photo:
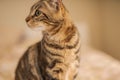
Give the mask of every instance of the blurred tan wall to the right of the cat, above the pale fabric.
<svg viewBox="0 0 120 80">
<path fill-rule="evenodd" d="M 83 40 L 120 60 L 120 1 L 65 0 Z M 87 35 L 85 35 L 87 34 Z M 87 39 L 87 40 L 86 40 Z M 85 42 L 86 43 L 86 42 Z"/>
</svg>

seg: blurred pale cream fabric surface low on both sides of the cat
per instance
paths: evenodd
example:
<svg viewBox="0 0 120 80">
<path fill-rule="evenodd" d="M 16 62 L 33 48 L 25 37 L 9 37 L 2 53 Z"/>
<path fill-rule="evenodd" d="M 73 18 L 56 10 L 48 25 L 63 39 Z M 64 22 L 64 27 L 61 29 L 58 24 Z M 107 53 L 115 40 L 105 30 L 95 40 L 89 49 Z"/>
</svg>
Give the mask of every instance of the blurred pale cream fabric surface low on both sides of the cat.
<svg viewBox="0 0 120 80">
<path fill-rule="evenodd" d="M 4 49 L 0 53 L 0 80 L 14 80 L 19 58 L 26 50 L 23 45 Z M 77 80 L 119 80 L 120 62 L 106 53 L 88 46 L 81 47 L 81 63 Z"/>
</svg>

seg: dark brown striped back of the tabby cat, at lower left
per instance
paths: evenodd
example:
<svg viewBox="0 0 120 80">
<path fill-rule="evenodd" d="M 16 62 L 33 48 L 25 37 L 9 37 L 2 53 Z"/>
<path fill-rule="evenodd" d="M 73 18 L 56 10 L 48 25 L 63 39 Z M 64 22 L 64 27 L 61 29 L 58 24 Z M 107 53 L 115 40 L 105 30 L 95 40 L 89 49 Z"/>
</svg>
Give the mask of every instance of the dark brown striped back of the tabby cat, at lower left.
<svg viewBox="0 0 120 80">
<path fill-rule="evenodd" d="M 40 48 L 41 46 L 39 46 L 39 49 Z M 32 45 L 27 49 L 27 51 L 21 57 L 16 68 L 15 80 L 40 80 L 37 58 L 38 52 L 38 43 Z"/>
</svg>

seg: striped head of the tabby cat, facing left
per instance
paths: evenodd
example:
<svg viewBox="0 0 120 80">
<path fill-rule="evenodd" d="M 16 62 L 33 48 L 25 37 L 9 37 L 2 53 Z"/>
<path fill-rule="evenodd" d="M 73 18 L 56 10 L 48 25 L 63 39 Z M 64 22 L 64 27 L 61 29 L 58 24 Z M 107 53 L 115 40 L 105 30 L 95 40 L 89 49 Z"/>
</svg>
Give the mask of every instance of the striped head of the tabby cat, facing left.
<svg viewBox="0 0 120 80">
<path fill-rule="evenodd" d="M 62 0 L 39 0 L 31 7 L 26 22 L 32 29 L 49 29 L 57 27 L 64 20 L 64 13 Z"/>
</svg>

